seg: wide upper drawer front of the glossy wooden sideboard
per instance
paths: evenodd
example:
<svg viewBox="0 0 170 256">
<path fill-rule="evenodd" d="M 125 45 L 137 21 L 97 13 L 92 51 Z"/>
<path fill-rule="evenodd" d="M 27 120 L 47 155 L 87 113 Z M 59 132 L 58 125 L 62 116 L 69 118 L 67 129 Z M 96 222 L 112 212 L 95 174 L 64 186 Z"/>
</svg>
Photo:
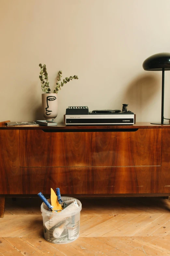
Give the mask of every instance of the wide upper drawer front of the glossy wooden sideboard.
<svg viewBox="0 0 170 256">
<path fill-rule="evenodd" d="M 20 130 L 20 167 L 159 166 L 162 129 Z"/>
</svg>

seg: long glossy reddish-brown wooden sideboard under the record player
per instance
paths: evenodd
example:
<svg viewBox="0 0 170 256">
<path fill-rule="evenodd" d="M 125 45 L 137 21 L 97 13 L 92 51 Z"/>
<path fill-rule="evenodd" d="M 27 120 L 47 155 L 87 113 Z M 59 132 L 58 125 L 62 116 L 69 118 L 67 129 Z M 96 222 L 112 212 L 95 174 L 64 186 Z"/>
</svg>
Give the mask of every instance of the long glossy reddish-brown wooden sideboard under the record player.
<svg viewBox="0 0 170 256">
<path fill-rule="evenodd" d="M 0 216 L 7 195 L 170 196 L 170 125 L 7 127 L 0 123 Z"/>
</svg>

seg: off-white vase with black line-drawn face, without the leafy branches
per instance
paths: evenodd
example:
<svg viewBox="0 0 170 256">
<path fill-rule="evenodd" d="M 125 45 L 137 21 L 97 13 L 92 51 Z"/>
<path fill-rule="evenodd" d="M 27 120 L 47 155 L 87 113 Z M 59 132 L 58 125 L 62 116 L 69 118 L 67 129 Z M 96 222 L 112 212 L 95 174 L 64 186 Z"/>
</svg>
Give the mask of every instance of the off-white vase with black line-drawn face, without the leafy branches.
<svg viewBox="0 0 170 256">
<path fill-rule="evenodd" d="M 42 94 L 42 109 L 45 120 L 51 121 L 58 114 L 58 99 L 56 93 Z"/>
</svg>

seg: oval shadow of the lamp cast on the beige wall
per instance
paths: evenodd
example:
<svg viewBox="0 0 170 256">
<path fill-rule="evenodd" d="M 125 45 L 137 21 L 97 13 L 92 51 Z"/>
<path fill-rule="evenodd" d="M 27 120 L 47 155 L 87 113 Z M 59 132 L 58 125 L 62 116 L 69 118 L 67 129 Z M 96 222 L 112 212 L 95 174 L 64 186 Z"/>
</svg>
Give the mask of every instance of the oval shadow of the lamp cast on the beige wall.
<svg viewBox="0 0 170 256">
<path fill-rule="evenodd" d="M 129 104 L 129 110 L 134 111 L 139 120 L 144 110 L 151 109 L 149 105 L 160 89 L 161 81 L 155 74 L 139 76 L 127 85 L 122 102 Z"/>
</svg>

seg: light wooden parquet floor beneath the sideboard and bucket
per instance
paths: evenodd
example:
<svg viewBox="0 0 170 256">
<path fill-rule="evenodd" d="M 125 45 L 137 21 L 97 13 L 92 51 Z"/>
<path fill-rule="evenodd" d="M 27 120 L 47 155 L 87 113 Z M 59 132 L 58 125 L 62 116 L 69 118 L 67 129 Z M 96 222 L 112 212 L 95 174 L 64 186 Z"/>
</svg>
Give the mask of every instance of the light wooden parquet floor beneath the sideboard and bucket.
<svg viewBox="0 0 170 256">
<path fill-rule="evenodd" d="M 39 198 L 6 200 L 0 256 L 170 256 L 170 200 L 80 199 L 80 237 L 54 245 L 43 238 Z"/>
</svg>

